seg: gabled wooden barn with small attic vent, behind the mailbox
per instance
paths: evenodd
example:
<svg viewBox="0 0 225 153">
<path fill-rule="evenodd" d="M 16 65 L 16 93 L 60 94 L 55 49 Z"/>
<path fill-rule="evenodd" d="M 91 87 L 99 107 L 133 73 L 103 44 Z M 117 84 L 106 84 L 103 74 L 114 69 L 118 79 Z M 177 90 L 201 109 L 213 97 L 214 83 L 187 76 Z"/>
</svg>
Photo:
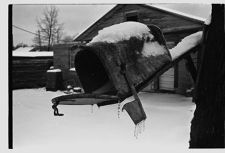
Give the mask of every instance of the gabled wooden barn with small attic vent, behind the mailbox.
<svg viewBox="0 0 225 153">
<path fill-rule="evenodd" d="M 98 34 L 98 31 L 125 21 L 137 21 L 146 25 L 158 26 L 166 39 L 168 48 L 174 47 L 187 35 L 201 31 L 203 19 L 190 16 L 178 11 L 148 4 L 118 4 L 99 20 L 93 23 L 84 32 L 78 35 L 75 42 L 89 42 Z M 54 67 L 63 69 L 68 73 L 74 67 L 75 47 L 59 45 L 54 49 Z M 197 54 L 192 55 L 197 63 Z M 64 74 L 64 79 L 68 77 Z M 182 60 L 173 68 L 162 74 L 144 90 L 171 91 L 185 94 L 193 86 L 192 78 L 186 70 L 185 61 Z"/>
</svg>

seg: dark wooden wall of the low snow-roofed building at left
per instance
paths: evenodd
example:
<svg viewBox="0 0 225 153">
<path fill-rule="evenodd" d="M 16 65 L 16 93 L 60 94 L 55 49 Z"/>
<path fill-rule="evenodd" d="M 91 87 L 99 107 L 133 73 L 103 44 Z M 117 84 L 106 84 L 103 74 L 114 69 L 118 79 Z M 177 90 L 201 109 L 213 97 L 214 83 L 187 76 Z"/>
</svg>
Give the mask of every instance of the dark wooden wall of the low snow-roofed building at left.
<svg viewBox="0 0 225 153">
<path fill-rule="evenodd" d="M 12 88 L 38 88 L 46 84 L 46 71 L 53 64 L 49 58 L 13 57 Z"/>
</svg>

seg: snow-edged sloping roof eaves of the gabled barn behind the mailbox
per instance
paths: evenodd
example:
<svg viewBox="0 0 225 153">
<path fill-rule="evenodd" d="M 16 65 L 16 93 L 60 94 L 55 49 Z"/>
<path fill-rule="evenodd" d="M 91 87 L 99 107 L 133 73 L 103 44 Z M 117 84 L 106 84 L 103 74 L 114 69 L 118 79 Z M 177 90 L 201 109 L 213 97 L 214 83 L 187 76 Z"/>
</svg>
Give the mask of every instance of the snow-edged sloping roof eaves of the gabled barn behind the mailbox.
<svg viewBox="0 0 225 153">
<path fill-rule="evenodd" d="M 76 41 L 77 39 L 79 39 L 80 36 L 82 36 L 86 31 L 88 31 L 95 24 L 97 24 L 104 16 L 106 16 L 106 15 L 114 12 L 117 8 L 122 7 L 123 5 L 125 5 L 125 4 L 115 5 L 106 14 L 104 14 L 103 16 L 101 16 L 92 25 L 90 25 L 88 28 L 84 29 L 79 35 L 77 35 L 74 38 L 74 41 Z M 166 12 L 166 13 L 171 14 L 171 15 L 183 17 L 183 18 L 185 18 L 187 20 L 194 21 L 194 22 L 197 22 L 197 23 L 203 24 L 205 22 L 205 19 L 204 18 L 197 17 L 197 16 L 194 16 L 194 15 L 190 15 L 190 14 L 187 14 L 187 13 L 183 13 L 183 12 L 180 12 L 180 11 L 177 11 L 177 10 L 174 10 L 174 9 L 169 9 L 169 8 L 165 8 L 165 7 L 162 7 L 162 6 L 156 6 L 156 5 L 152 5 L 152 4 L 137 4 L 137 5 L 141 5 L 141 6 L 144 6 L 144 7 L 151 8 L 151 9 L 156 9 L 156 10 L 159 10 L 159 11 L 162 11 L 162 12 Z"/>
</svg>

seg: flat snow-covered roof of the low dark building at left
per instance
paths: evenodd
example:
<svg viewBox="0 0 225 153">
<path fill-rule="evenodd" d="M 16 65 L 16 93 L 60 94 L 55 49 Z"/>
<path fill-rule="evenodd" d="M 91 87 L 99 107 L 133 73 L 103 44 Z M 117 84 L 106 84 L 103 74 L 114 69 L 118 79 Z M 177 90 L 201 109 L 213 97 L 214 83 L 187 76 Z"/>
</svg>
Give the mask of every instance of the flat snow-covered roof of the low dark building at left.
<svg viewBox="0 0 225 153">
<path fill-rule="evenodd" d="M 13 51 L 13 57 L 52 57 L 53 51 L 41 51 L 41 52 L 26 52 Z"/>
</svg>

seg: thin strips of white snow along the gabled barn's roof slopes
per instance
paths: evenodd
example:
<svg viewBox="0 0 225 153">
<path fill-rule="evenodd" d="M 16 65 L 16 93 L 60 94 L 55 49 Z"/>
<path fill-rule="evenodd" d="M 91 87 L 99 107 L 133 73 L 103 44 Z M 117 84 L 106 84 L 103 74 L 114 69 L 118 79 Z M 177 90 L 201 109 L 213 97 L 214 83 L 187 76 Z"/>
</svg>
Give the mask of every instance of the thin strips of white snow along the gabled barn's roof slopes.
<svg viewBox="0 0 225 153">
<path fill-rule="evenodd" d="M 118 4 L 120 5 L 120 4 Z M 114 8 L 116 8 L 118 5 L 115 5 L 113 6 L 109 11 L 107 11 L 107 13 L 109 13 L 110 11 L 112 11 Z M 204 23 L 205 19 L 204 18 L 201 18 L 201 17 L 197 17 L 197 16 L 194 16 L 194 15 L 191 15 L 191 14 L 187 14 L 187 13 L 183 13 L 183 12 L 180 12 L 180 11 L 177 11 L 177 10 L 174 10 L 174 9 L 169 9 L 169 8 L 166 8 L 166 7 L 162 7 L 162 6 L 156 6 L 156 5 L 152 5 L 152 4 L 144 4 L 148 7 L 152 7 L 152 8 L 155 8 L 155 9 L 158 9 L 158 10 L 162 10 L 162 11 L 165 11 L 165 12 L 169 12 L 171 14 L 175 14 L 175 15 L 179 15 L 179 16 L 183 16 L 183 17 L 186 17 L 186 18 L 189 18 L 189 19 L 192 19 L 192 20 L 195 20 L 195 21 L 199 21 L 199 22 L 202 22 Z M 78 37 L 80 37 L 85 31 L 87 31 L 89 28 L 91 28 L 94 24 L 96 24 L 103 16 L 105 16 L 107 13 L 103 14 L 100 18 L 98 18 L 93 24 L 91 24 L 90 26 L 88 26 L 87 28 L 85 28 L 82 32 L 80 32 L 78 35 L 76 35 L 73 40 L 77 39 Z"/>
</svg>

